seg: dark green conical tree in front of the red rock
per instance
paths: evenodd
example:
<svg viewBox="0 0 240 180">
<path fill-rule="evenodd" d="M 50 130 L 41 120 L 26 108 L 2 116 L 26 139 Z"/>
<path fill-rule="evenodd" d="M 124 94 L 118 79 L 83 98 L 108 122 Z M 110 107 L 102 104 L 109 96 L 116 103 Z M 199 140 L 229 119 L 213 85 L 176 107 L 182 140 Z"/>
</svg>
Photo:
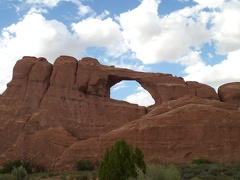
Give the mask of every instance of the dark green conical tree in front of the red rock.
<svg viewBox="0 0 240 180">
<path fill-rule="evenodd" d="M 136 167 L 146 172 L 143 153 L 137 147 L 135 153 L 132 146 L 124 140 L 118 140 L 109 150 L 106 150 L 100 165 L 100 180 L 125 180 L 128 177 L 137 177 Z"/>
</svg>

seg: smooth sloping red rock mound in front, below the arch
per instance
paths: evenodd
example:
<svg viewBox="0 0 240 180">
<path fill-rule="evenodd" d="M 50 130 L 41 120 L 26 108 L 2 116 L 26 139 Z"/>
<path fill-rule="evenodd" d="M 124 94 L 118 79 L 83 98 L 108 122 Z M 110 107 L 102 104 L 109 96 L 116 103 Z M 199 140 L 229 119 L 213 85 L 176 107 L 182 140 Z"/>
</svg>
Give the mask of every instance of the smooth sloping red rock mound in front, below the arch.
<svg viewBox="0 0 240 180">
<path fill-rule="evenodd" d="M 106 147 L 121 138 L 139 146 L 151 163 L 186 164 L 198 158 L 236 163 L 239 137 L 240 113 L 234 105 L 186 96 L 163 103 L 115 131 L 74 143 L 55 169 L 72 169 L 76 159 L 101 161 Z"/>
</svg>

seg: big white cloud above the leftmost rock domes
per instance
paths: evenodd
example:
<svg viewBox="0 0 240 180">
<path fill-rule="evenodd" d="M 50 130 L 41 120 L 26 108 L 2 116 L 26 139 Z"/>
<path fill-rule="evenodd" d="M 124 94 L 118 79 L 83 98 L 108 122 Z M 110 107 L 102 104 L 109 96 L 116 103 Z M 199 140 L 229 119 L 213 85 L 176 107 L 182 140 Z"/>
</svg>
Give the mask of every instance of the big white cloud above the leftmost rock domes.
<svg viewBox="0 0 240 180">
<path fill-rule="evenodd" d="M 46 20 L 40 14 L 25 18 L 2 31 L 5 51 L 15 56 L 42 56 L 53 62 L 59 54 L 76 54 L 79 45 L 67 27 L 56 20 Z M 63 48 L 64 47 L 64 48 Z"/>
</svg>

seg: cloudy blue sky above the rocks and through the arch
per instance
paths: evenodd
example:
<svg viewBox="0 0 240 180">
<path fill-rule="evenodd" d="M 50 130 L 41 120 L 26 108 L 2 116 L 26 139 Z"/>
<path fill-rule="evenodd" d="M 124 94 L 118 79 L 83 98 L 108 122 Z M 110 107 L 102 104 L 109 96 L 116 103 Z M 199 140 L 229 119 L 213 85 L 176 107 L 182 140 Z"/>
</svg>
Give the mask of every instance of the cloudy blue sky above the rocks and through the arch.
<svg viewBox="0 0 240 180">
<path fill-rule="evenodd" d="M 0 93 L 22 56 L 97 58 L 217 88 L 240 81 L 239 0 L 5 0 L 0 2 Z M 112 98 L 154 103 L 137 82 Z"/>
</svg>

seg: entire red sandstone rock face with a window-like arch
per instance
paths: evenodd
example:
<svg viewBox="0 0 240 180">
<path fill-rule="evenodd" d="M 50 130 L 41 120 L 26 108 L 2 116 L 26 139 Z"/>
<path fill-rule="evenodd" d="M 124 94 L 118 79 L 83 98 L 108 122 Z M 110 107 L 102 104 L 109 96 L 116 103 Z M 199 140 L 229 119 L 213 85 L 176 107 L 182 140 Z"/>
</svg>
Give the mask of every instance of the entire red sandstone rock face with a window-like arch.
<svg viewBox="0 0 240 180">
<path fill-rule="evenodd" d="M 110 98 L 110 88 L 135 80 L 151 107 Z M 240 83 L 218 94 L 170 74 L 101 65 L 96 59 L 23 57 L 0 96 L 0 164 L 32 159 L 73 170 L 80 159 L 101 161 L 120 138 L 138 145 L 148 162 L 189 163 L 207 158 L 240 162 Z"/>
</svg>

